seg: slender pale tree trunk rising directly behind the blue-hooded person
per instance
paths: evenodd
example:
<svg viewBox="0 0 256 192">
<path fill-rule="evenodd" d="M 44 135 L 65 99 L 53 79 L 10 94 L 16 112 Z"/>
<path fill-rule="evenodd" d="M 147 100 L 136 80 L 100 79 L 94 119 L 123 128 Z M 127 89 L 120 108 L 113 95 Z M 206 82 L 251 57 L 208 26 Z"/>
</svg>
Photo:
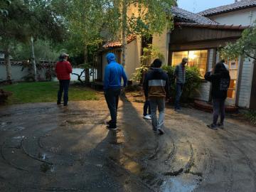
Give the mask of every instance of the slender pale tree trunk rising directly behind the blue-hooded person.
<svg viewBox="0 0 256 192">
<path fill-rule="evenodd" d="M 127 0 L 122 1 L 122 65 L 125 65 L 127 49 Z"/>
</svg>

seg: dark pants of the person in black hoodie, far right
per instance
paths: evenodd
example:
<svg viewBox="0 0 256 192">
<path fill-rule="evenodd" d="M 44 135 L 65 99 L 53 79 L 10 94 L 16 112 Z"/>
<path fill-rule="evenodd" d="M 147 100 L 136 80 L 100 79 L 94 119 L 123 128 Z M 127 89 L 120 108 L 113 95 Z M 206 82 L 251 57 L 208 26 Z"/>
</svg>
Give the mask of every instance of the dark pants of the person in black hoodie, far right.
<svg viewBox="0 0 256 192">
<path fill-rule="evenodd" d="M 217 124 L 220 114 L 220 123 L 225 119 L 225 99 L 213 99 L 213 124 Z"/>
</svg>

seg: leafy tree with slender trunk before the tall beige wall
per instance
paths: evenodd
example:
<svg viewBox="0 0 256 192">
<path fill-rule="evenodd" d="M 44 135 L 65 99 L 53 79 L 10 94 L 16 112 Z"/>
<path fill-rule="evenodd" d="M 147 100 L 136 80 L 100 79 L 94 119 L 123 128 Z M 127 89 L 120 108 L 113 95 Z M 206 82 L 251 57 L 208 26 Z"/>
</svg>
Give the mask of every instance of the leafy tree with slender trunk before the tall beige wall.
<svg viewBox="0 0 256 192">
<path fill-rule="evenodd" d="M 149 37 L 173 26 L 170 10 L 171 6 L 176 5 L 176 0 L 106 0 L 106 2 L 107 9 L 110 9 L 107 11 L 110 15 L 106 17 L 110 18 L 107 23 L 116 23 L 110 26 L 112 31 L 122 31 L 122 65 L 125 65 L 127 35 Z M 128 13 L 130 8 L 134 8 L 131 14 Z"/>
</svg>

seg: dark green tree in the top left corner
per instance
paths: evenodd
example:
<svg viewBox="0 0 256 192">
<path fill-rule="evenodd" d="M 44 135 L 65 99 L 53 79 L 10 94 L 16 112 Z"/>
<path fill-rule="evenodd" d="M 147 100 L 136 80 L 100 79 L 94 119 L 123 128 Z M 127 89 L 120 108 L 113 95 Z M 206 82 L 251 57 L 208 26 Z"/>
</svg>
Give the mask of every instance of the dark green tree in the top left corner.
<svg viewBox="0 0 256 192">
<path fill-rule="evenodd" d="M 1 8 L 2 9 L 2 8 Z M 51 38 L 54 41 L 63 39 L 63 24 L 54 11 L 50 1 L 13 0 L 6 4 L 6 16 L 0 20 L 0 41 L 5 50 L 6 80 L 11 80 L 11 51 L 17 42 L 26 43 L 31 37 Z"/>
</svg>

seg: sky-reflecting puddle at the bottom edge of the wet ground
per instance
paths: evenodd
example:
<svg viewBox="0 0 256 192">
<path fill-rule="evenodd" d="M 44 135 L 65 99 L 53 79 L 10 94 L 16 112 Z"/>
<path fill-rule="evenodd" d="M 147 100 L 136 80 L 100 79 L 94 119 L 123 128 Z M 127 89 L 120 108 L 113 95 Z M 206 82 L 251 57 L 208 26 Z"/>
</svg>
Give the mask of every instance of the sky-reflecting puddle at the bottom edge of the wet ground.
<svg viewBox="0 0 256 192">
<path fill-rule="evenodd" d="M 162 192 L 192 192 L 198 186 L 201 177 L 182 174 L 180 176 L 175 176 L 168 178 L 163 182 L 160 191 Z"/>
</svg>

